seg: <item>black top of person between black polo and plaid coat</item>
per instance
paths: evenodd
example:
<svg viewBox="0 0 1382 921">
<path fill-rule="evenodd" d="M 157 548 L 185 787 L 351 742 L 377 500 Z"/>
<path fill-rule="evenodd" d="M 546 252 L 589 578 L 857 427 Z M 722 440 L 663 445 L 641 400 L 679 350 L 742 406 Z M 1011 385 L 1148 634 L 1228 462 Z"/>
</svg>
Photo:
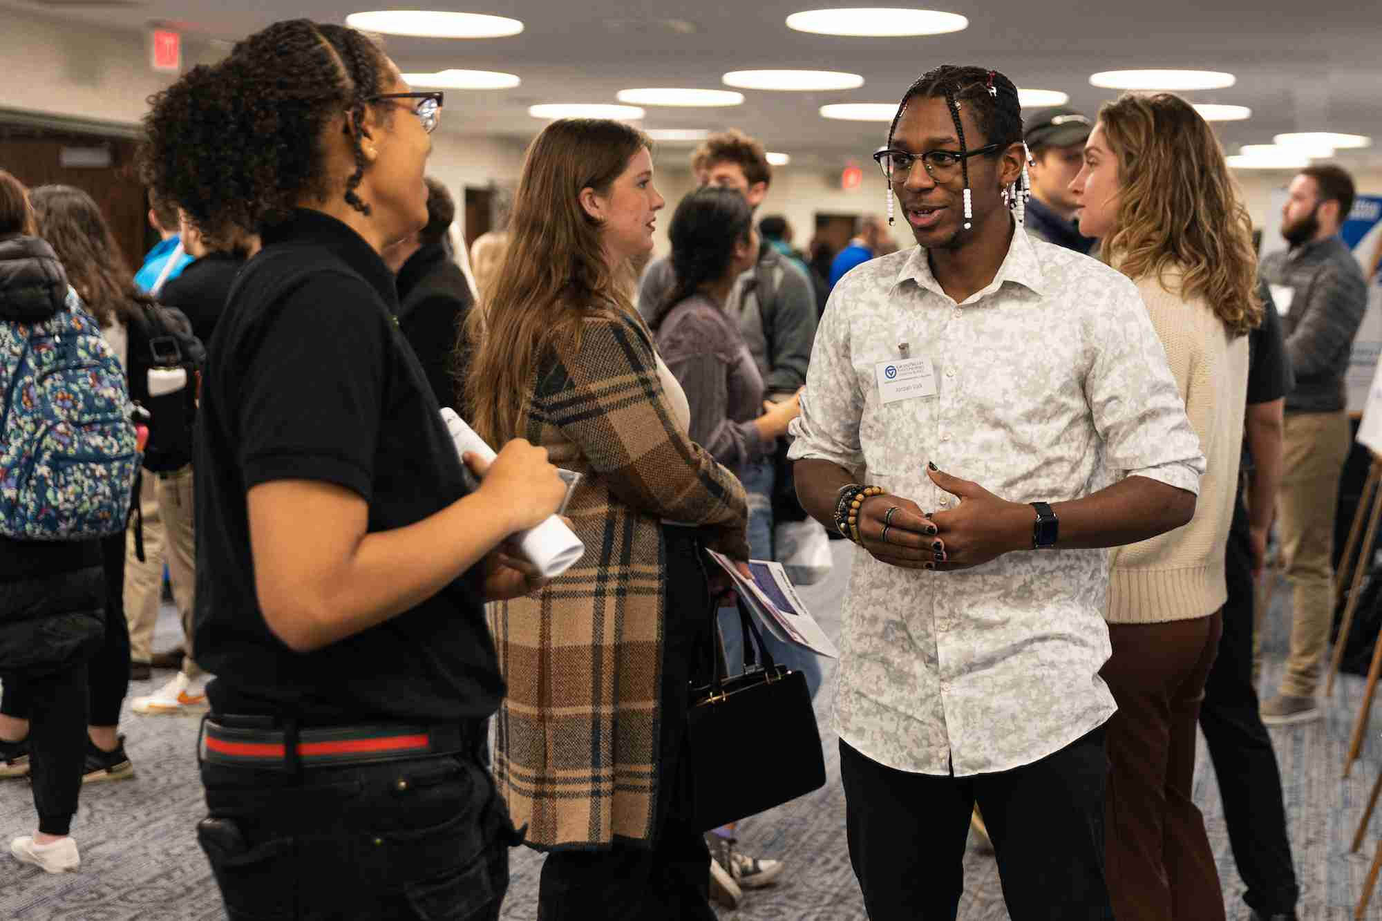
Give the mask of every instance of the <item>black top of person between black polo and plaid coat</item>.
<svg viewBox="0 0 1382 921">
<path fill-rule="evenodd" d="M 441 243 L 423 246 L 398 270 L 398 328 L 417 353 L 427 383 L 442 407 L 459 407 L 464 368 L 455 360 L 462 324 L 474 300 L 460 267 Z"/>
</svg>

